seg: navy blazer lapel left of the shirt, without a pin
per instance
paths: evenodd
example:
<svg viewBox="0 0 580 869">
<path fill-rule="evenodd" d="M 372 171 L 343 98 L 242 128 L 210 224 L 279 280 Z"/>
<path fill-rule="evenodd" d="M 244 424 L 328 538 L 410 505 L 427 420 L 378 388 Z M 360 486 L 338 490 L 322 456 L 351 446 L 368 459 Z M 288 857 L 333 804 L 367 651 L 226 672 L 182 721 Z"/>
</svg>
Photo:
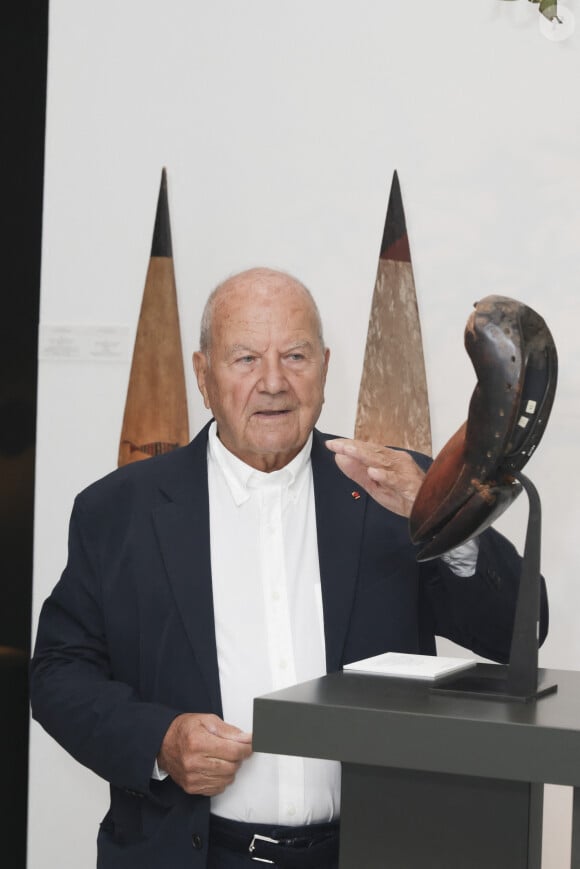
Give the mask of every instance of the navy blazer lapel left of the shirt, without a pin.
<svg viewBox="0 0 580 869">
<path fill-rule="evenodd" d="M 175 602 L 207 687 L 211 709 L 221 715 L 215 639 L 209 503 L 207 426 L 182 452 L 182 463 L 161 488 L 167 498 L 154 510 L 159 545 Z"/>
</svg>

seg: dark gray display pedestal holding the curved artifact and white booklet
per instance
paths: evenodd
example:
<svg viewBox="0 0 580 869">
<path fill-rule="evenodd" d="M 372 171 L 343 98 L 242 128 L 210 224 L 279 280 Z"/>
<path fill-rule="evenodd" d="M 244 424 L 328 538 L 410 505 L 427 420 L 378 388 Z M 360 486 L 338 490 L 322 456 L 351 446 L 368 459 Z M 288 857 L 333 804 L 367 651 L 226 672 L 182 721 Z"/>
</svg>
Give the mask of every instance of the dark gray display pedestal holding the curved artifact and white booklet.
<svg viewBox="0 0 580 869">
<path fill-rule="evenodd" d="M 254 749 L 342 762 L 340 869 L 540 869 L 545 782 L 574 786 L 580 869 L 580 673 L 539 673 L 530 703 L 335 673 L 257 698 Z"/>
</svg>

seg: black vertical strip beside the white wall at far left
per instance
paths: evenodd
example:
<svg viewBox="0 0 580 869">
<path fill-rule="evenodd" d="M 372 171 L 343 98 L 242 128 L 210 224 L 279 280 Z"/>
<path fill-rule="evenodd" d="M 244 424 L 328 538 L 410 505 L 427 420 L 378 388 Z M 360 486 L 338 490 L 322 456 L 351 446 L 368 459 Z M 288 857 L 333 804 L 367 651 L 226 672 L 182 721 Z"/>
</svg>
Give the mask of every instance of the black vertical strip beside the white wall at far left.
<svg viewBox="0 0 580 869">
<path fill-rule="evenodd" d="M 2 317 L 0 318 L 0 793 L 3 866 L 26 865 L 28 667 L 48 0 L 2 7 Z M 55 577 L 56 581 L 56 577 Z"/>
</svg>

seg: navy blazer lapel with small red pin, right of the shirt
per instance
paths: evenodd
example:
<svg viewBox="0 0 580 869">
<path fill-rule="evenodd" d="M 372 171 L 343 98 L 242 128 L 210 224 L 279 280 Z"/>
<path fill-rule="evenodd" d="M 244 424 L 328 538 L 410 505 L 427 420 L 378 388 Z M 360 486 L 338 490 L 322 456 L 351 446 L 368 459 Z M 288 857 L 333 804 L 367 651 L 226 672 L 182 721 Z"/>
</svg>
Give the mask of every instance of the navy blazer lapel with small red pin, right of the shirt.
<svg viewBox="0 0 580 869">
<path fill-rule="evenodd" d="M 368 495 L 337 468 L 316 429 L 312 474 L 324 612 L 326 669 L 340 669 L 353 598 Z"/>
</svg>

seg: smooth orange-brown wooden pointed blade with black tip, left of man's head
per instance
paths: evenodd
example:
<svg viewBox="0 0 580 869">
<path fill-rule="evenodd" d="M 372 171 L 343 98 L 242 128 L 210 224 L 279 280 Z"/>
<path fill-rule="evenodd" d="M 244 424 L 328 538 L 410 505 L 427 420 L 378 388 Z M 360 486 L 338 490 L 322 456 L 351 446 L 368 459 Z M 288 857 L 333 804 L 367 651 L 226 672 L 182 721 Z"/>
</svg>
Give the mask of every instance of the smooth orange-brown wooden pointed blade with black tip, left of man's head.
<svg viewBox="0 0 580 869">
<path fill-rule="evenodd" d="M 169 452 L 188 440 L 167 175 L 163 169 L 127 388 L 119 466 Z"/>
</svg>

